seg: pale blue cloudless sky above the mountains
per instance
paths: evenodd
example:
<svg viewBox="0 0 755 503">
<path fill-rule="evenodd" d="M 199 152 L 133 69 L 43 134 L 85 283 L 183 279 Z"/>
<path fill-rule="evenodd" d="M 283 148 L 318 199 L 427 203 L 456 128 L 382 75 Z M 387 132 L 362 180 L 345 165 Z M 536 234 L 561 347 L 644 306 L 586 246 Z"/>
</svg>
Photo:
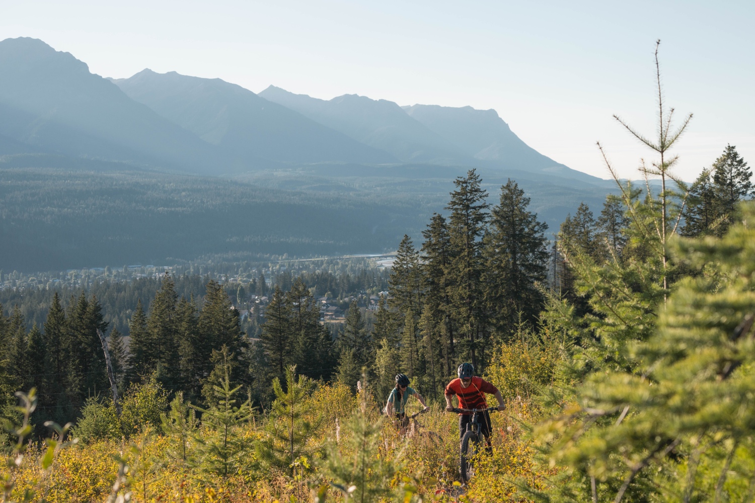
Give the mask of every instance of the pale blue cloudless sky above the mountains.
<svg viewBox="0 0 755 503">
<path fill-rule="evenodd" d="M 695 113 L 677 172 L 693 179 L 726 143 L 755 165 L 753 23 L 752 1 L 0 0 L 0 39 L 42 38 L 103 76 L 493 108 L 530 146 L 603 178 L 596 140 L 622 176 L 647 155 L 612 114 L 655 130 L 656 38 L 667 104 Z"/>
</svg>

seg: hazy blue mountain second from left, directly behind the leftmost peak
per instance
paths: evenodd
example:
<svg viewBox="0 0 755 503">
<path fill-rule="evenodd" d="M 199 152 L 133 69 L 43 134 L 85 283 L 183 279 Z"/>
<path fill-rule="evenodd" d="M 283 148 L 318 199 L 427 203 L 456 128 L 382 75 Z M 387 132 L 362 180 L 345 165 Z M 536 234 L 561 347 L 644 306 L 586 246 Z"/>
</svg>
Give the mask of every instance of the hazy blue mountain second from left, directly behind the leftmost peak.
<svg viewBox="0 0 755 503">
<path fill-rule="evenodd" d="M 128 97 L 232 158 L 381 164 L 396 158 L 220 78 L 144 69 L 112 79 Z"/>
</svg>

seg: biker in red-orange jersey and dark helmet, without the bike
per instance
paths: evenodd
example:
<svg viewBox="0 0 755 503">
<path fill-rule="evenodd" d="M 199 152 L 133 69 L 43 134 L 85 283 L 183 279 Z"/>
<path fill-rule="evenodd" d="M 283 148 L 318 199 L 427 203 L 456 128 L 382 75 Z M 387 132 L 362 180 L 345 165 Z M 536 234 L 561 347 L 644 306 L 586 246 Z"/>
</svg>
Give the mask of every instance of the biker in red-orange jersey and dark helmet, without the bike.
<svg viewBox="0 0 755 503">
<path fill-rule="evenodd" d="M 487 409 L 488 403 L 485 401 L 485 393 L 495 394 L 498 400 L 498 410 L 506 408 L 504 406 L 504 397 L 501 391 L 498 391 L 491 383 L 481 377 L 474 376 L 474 367 L 472 363 L 461 363 L 456 371 L 458 379 L 448 383 L 445 387 L 445 409 L 450 413 L 454 411 L 454 405 L 451 403 L 451 397 L 456 395 L 459 399 L 460 409 Z M 485 435 L 488 446 L 490 445 L 490 413 L 487 410 L 480 416 L 480 433 Z M 471 413 L 459 413 L 459 438 L 464 436 L 467 426 L 472 420 Z"/>
</svg>

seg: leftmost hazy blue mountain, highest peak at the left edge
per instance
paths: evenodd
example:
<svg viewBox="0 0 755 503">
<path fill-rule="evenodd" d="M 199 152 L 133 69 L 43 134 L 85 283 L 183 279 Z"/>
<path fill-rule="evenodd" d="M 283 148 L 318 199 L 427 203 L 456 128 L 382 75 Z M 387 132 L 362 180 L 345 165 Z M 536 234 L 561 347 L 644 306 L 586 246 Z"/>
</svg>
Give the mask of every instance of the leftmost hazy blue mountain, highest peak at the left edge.
<svg viewBox="0 0 755 503">
<path fill-rule="evenodd" d="M 222 152 L 127 97 L 70 53 L 35 38 L 0 41 L 0 133 L 37 149 L 211 171 Z"/>
</svg>

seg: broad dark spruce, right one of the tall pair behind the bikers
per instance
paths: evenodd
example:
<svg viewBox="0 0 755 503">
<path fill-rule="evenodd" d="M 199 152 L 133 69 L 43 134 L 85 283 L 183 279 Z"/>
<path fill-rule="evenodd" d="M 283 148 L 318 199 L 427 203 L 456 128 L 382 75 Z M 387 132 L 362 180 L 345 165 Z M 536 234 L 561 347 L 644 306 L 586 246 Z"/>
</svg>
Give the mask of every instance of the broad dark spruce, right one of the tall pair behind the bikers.
<svg viewBox="0 0 755 503">
<path fill-rule="evenodd" d="M 485 302 L 502 336 L 510 336 L 520 315 L 534 322 L 543 305 L 536 284 L 547 275 L 547 224 L 527 209 L 530 199 L 509 179 L 491 212 L 485 238 Z"/>
</svg>

